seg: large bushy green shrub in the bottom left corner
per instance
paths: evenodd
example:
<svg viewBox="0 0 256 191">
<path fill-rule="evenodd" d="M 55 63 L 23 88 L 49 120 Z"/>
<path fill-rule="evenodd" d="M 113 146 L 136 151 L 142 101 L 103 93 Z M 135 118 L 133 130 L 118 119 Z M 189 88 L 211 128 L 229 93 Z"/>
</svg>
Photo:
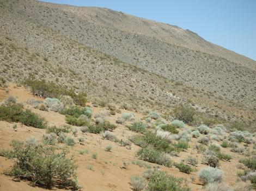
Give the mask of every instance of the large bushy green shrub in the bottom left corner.
<svg viewBox="0 0 256 191">
<path fill-rule="evenodd" d="M 66 152 L 55 152 L 56 148 L 43 145 L 33 147 L 15 140 L 11 147 L 9 156 L 15 161 L 10 175 L 46 188 L 78 189 L 76 165 L 73 158 L 66 158 Z"/>
</svg>

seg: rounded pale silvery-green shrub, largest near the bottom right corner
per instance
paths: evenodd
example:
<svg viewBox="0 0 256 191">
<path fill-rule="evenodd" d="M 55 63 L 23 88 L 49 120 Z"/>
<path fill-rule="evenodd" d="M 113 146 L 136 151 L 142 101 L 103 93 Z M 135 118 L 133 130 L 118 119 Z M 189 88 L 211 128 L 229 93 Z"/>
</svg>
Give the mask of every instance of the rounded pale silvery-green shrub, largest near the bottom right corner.
<svg viewBox="0 0 256 191">
<path fill-rule="evenodd" d="M 218 168 L 206 167 L 199 170 L 198 176 L 204 184 L 222 182 L 223 171 Z"/>
</svg>

